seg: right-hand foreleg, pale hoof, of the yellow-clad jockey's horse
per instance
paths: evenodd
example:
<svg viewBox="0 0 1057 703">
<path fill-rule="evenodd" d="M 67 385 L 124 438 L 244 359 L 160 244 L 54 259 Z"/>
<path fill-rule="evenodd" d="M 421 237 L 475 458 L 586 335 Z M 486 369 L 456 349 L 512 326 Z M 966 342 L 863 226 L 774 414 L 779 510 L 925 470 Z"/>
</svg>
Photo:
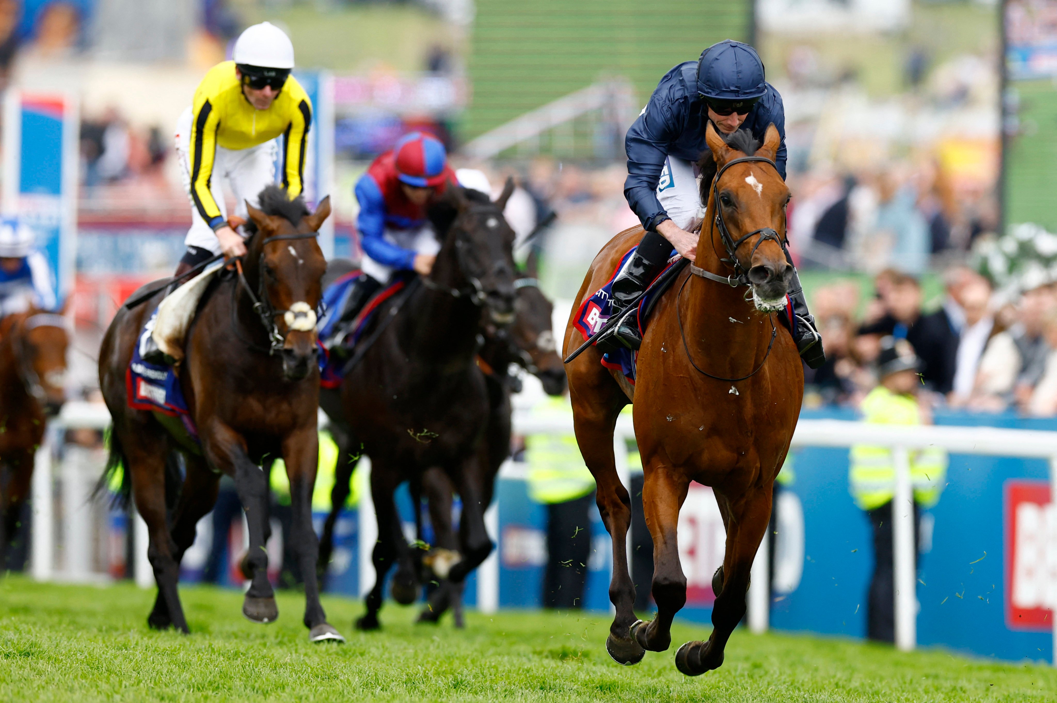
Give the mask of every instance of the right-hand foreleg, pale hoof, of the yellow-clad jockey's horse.
<svg viewBox="0 0 1057 703">
<path fill-rule="evenodd" d="M 282 459 L 290 478 L 290 537 L 301 573 L 309 576 L 304 579 L 303 618 L 304 627 L 309 628 L 309 640 L 345 642 L 327 622 L 327 613 L 319 603 L 319 581 L 310 575 L 319 559 L 319 542 L 312 529 L 312 489 L 316 485 L 316 466 L 319 461 L 319 436 L 314 424 L 286 436 L 282 443 Z M 342 500 L 338 505 L 344 503 Z"/>
</svg>

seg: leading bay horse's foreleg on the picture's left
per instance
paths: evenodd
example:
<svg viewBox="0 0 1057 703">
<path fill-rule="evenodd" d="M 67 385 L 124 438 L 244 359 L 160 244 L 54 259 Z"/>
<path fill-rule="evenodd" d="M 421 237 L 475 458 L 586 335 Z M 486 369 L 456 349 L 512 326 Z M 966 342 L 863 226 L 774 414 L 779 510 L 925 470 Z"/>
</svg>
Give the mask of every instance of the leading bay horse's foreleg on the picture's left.
<svg viewBox="0 0 1057 703">
<path fill-rule="evenodd" d="M 635 641 L 650 651 L 665 651 L 671 644 L 671 622 L 686 605 L 686 576 L 679 561 L 679 508 L 690 481 L 668 466 L 646 467 L 643 512 L 653 538 L 653 600 L 657 614 L 634 628 Z"/>
</svg>

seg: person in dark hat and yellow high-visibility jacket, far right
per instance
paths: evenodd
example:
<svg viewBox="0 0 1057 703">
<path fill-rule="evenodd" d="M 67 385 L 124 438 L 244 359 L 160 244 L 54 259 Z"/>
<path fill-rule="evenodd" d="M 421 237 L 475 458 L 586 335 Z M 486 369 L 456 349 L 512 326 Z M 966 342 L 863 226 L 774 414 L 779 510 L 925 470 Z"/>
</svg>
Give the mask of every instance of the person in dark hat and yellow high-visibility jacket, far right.
<svg viewBox="0 0 1057 703">
<path fill-rule="evenodd" d="M 923 425 L 929 418 L 919 405 L 920 359 L 906 339 L 885 337 L 877 357 L 880 385 L 863 401 L 864 420 L 885 425 Z M 947 456 L 940 449 L 915 451 L 910 458 L 914 493 L 914 534 L 921 508 L 939 501 L 946 485 Z M 892 498 L 895 465 L 888 447 L 855 445 L 851 449 L 849 484 L 855 503 L 873 526 L 874 572 L 867 599 L 867 636 L 877 642 L 895 639 L 892 557 Z M 915 557 L 919 556 L 915 553 Z M 916 561 L 916 558 L 915 558 Z"/>
</svg>

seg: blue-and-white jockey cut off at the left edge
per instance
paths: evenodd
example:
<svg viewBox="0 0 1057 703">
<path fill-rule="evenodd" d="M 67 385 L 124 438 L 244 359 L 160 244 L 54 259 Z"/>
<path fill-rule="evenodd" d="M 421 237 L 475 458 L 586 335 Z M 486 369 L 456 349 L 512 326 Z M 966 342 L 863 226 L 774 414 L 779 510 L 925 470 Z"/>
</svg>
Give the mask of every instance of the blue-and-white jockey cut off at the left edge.
<svg viewBox="0 0 1057 703">
<path fill-rule="evenodd" d="M 33 230 L 15 219 L 0 221 L 0 317 L 31 307 L 55 310 L 55 285 L 48 259 L 33 248 Z"/>
</svg>

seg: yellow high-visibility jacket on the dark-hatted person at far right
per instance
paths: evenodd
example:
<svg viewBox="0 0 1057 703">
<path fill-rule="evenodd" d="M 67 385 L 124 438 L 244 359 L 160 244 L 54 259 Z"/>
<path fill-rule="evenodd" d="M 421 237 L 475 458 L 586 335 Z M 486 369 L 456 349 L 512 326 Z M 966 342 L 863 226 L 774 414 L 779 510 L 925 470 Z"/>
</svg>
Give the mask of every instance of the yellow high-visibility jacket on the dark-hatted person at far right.
<svg viewBox="0 0 1057 703">
<path fill-rule="evenodd" d="M 911 395 L 898 395 L 877 386 L 863 400 L 864 420 L 878 425 L 920 425 L 921 410 Z M 940 500 L 946 485 L 947 452 L 926 448 L 910 451 L 910 481 L 914 501 L 931 507 Z M 880 507 L 892 500 L 895 463 L 888 447 L 856 444 L 849 452 L 848 482 L 855 503 L 865 511 Z"/>
</svg>

